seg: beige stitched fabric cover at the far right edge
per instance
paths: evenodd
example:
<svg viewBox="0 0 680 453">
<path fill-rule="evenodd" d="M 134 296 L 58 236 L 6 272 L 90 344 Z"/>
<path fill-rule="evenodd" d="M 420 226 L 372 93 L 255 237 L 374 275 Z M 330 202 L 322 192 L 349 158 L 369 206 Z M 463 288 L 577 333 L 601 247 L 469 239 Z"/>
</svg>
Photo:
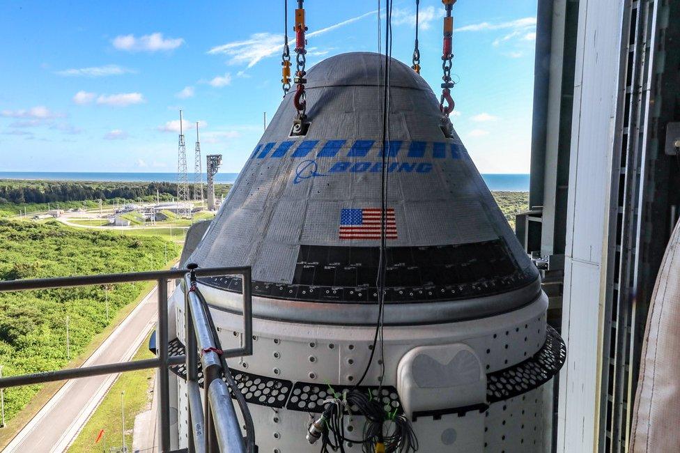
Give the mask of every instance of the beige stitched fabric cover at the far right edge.
<svg viewBox="0 0 680 453">
<path fill-rule="evenodd" d="M 651 298 L 633 413 L 633 452 L 680 450 L 680 223 Z"/>
</svg>

